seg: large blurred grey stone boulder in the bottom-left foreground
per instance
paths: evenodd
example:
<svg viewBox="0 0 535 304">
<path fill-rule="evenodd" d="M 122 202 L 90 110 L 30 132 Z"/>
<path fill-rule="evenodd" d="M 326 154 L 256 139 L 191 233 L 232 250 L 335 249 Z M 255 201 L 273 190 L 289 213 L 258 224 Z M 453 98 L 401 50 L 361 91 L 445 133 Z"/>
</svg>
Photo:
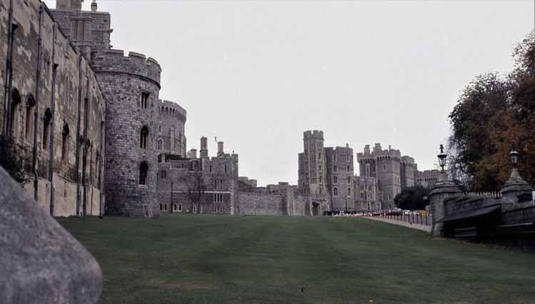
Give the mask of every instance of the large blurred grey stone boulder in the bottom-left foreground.
<svg viewBox="0 0 535 304">
<path fill-rule="evenodd" d="M 91 253 L 0 167 L 0 303 L 96 303 Z"/>
</svg>

